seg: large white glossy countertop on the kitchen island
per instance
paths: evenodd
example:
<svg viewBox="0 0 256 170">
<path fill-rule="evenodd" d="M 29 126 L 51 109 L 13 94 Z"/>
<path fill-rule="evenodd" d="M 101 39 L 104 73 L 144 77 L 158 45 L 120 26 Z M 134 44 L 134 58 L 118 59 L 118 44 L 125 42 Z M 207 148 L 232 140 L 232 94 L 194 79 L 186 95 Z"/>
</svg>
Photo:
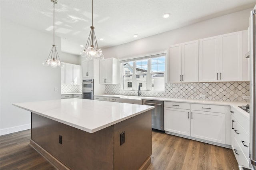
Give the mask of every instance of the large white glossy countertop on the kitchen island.
<svg viewBox="0 0 256 170">
<path fill-rule="evenodd" d="M 86 99 L 59 99 L 12 105 L 90 133 L 154 109 L 147 105 L 118 102 L 110 104 Z"/>
</svg>

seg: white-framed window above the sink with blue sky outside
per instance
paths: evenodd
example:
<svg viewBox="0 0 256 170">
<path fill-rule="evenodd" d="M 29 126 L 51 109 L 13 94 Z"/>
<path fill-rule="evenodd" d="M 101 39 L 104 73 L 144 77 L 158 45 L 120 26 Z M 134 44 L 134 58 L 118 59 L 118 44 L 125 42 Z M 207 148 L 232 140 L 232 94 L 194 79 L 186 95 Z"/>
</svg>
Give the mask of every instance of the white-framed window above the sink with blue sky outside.
<svg viewBox="0 0 256 170">
<path fill-rule="evenodd" d="M 142 91 L 164 91 L 165 56 L 162 53 L 121 61 L 122 90 L 138 90 L 140 86 Z"/>
</svg>

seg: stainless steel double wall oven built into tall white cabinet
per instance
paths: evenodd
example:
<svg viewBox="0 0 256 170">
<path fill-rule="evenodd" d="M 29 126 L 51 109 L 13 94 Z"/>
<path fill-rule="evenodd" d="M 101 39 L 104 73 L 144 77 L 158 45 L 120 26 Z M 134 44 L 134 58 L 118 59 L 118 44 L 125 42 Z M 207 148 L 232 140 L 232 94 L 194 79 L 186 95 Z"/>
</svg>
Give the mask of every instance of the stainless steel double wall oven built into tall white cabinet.
<svg viewBox="0 0 256 170">
<path fill-rule="evenodd" d="M 83 79 L 82 81 L 82 98 L 93 100 L 93 79 Z"/>
</svg>

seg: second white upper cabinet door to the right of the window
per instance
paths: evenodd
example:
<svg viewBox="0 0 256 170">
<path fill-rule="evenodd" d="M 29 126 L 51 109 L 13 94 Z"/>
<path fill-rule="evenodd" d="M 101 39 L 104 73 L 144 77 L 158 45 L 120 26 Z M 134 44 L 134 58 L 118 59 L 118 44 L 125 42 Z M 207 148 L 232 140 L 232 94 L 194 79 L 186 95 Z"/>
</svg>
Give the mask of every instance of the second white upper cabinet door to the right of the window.
<svg viewBox="0 0 256 170">
<path fill-rule="evenodd" d="M 198 82 L 199 41 L 182 43 L 182 82 Z"/>
</svg>

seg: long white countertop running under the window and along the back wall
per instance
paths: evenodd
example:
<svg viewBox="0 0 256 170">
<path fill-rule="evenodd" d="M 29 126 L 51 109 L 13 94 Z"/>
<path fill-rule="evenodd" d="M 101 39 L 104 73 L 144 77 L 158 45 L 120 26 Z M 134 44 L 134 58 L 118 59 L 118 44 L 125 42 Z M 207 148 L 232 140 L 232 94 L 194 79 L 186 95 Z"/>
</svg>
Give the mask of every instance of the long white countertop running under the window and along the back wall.
<svg viewBox="0 0 256 170">
<path fill-rule="evenodd" d="M 104 97 L 119 97 L 119 98 L 127 98 L 130 97 L 132 99 L 138 100 L 155 100 L 155 101 L 172 101 L 172 102 L 182 102 L 182 103 L 196 103 L 196 104 L 207 104 L 207 105 L 225 105 L 230 106 L 236 111 L 240 112 L 244 117 L 250 117 L 249 113 L 240 109 L 238 106 L 247 105 L 249 102 L 232 102 L 232 101 L 211 101 L 211 100 L 203 100 L 203 99 L 177 99 L 177 98 L 166 98 L 166 97 L 144 97 L 144 96 L 127 96 L 127 95 L 95 95 L 95 96 L 104 96 Z"/>
</svg>

